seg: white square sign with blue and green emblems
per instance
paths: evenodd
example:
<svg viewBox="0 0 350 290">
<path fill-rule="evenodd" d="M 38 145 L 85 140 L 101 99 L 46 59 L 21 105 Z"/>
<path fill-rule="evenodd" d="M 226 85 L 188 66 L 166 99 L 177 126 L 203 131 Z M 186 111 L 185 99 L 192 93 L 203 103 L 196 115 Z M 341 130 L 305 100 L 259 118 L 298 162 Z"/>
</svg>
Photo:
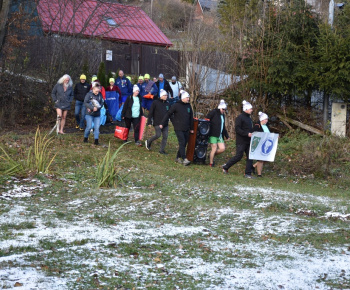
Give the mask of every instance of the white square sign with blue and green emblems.
<svg viewBox="0 0 350 290">
<path fill-rule="evenodd" d="M 273 162 L 277 145 L 278 134 L 254 132 L 250 140 L 249 159 Z"/>
</svg>

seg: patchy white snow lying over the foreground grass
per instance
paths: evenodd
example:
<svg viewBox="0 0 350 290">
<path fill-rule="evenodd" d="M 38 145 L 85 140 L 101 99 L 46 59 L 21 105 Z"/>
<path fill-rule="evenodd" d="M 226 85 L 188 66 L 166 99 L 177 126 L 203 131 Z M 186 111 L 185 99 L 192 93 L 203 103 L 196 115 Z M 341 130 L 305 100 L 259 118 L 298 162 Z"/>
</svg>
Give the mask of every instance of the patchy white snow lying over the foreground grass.
<svg viewBox="0 0 350 290">
<path fill-rule="evenodd" d="M 0 216 L 1 224 L 21 224 L 34 222 L 35 228 L 12 229 L 12 235 L 0 241 L 0 250 L 6 253 L 9 249 L 32 246 L 37 252 L 15 253 L 0 257 L 0 286 L 14 287 L 18 282 L 23 284 L 17 289 L 65 289 L 67 285 L 82 276 L 80 270 L 65 271 L 65 277 L 46 276 L 40 267 L 28 267 L 31 257 L 48 255 L 53 250 L 43 250 L 41 242 L 55 243 L 64 241 L 66 246 L 58 247 L 54 251 L 62 253 L 64 260 L 70 265 L 84 264 L 91 277 L 104 277 L 110 279 L 113 271 L 129 273 L 133 281 L 148 281 L 147 279 L 161 279 L 159 273 L 168 272 L 171 275 L 182 273 L 190 276 L 198 289 L 329 289 L 328 280 L 339 281 L 340 275 L 350 280 L 348 264 L 350 260 L 350 244 L 342 246 L 325 246 L 323 249 L 315 248 L 309 243 L 292 244 L 278 242 L 272 239 L 264 240 L 265 235 L 293 235 L 302 236 L 312 233 L 333 233 L 343 227 L 349 229 L 346 222 L 349 215 L 329 212 L 325 217 L 339 219 L 342 224 L 325 223 L 311 226 L 309 216 L 296 215 L 294 212 L 283 214 L 265 214 L 261 208 L 273 201 L 290 199 L 299 200 L 300 203 L 323 203 L 327 201 L 332 207 L 337 207 L 338 200 L 315 197 L 304 194 L 288 193 L 270 188 L 235 187 L 236 193 L 242 198 L 246 195 L 260 194 L 263 202 L 252 209 L 237 209 L 230 206 L 219 208 L 196 207 L 200 212 L 191 225 L 175 225 L 181 217 L 179 212 L 164 207 L 164 197 L 142 192 L 119 192 L 101 190 L 97 193 L 107 198 L 121 197 L 132 202 L 132 205 L 113 204 L 109 208 L 93 207 L 98 197 L 76 197 L 67 202 L 69 209 L 91 207 L 91 212 L 77 214 L 73 221 L 66 221 L 55 216 L 51 209 L 27 214 L 25 199 L 22 203 L 11 204 L 8 212 Z M 199 192 L 199 191 L 198 191 Z M 223 195 L 225 193 L 218 193 Z M 145 199 L 147 197 L 147 199 Z M 154 197 L 154 199 L 152 199 Z M 180 197 L 179 197 L 180 198 Z M 115 224 L 104 225 L 92 219 L 94 214 L 103 212 L 116 212 L 119 215 L 134 213 L 138 210 L 157 210 L 150 220 L 116 221 Z M 49 216 L 48 216 L 49 215 Z M 50 216 L 51 215 L 51 216 Z M 210 219 L 208 219 L 210 217 Z M 50 226 L 47 221 L 55 226 Z M 221 223 L 231 224 L 227 233 L 237 236 L 245 231 L 250 239 L 245 241 L 242 237 L 237 242 L 228 241 L 217 230 Z M 193 238 L 192 238 L 193 237 Z M 200 239 L 200 242 L 197 242 Z M 75 242 L 85 241 L 79 245 Z M 135 241 L 143 246 L 155 245 L 160 255 L 170 253 L 171 259 L 162 260 L 151 258 L 149 253 L 137 250 L 136 255 L 121 254 L 120 245 L 133 246 Z M 75 244 L 74 244 L 75 243 Z M 198 245 L 200 243 L 200 246 Z M 164 245 L 172 245 L 173 249 Z M 183 246 L 184 245 L 184 246 Z M 151 247 L 152 248 L 152 247 Z M 157 247 L 156 247 L 157 248 Z M 190 252 L 190 249 L 196 251 Z M 114 252 L 113 252 L 114 251 Z M 200 253 L 206 253 L 202 256 Z M 86 253 L 93 253 L 84 256 Z M 111 256 L 113 253 L 114 256 Z M 116 254 L 117 253 L 117 254 Z M 154 253 L 153 253 L 154 254 Z M 197 255 L 198 254 L 198 255 Z M 194 256 L 195 255 L 195 256 Z M 207 256 L 206 256 L 207 255 Z M 205 258 L 206 257 L 206 258 Z M 153 259 L 153 260 L 152 260 Z M 14 265 L 14 266 L 9 266 Z M 103 265 L 103 269 L 100 269 Z M 344 272 L 346 271 L 346 272 Z M 345 273 L 345 274 L 344 274 Z M 17 284 L 18 286 L 19 284 Z M 100 285 L 107 285 L 101 282 Z M 184 285 L 186 288 L 186 285 Z"/>
</svg>

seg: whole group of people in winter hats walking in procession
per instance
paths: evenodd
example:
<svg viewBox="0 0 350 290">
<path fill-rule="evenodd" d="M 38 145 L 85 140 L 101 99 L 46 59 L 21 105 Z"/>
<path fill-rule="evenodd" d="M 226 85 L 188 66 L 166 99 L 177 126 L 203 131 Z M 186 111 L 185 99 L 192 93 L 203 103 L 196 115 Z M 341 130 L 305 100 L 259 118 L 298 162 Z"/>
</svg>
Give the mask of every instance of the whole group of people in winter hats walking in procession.
<svg viewBox="0 0 350 290">
<path fill-rule="evenodd" d="M 157 81 L 151 81 L 150 75 L 140 76 L 137 84 L 132 85 L 131 81 L 119 71 L 118 78 L 109 80 L 110 85 L 103 88 L 97 77 L 92 78 L 89 85 L 86 76 L 80 76 L 80 82 L 73 89 L 73 83 L 69 75 L 64 75 L 59 79 L 52 90 L 52 100 L 56 108 L 58 120 L 60 122 L 59 134 L 64 134 L 63 129 L 70 104 L 75 98 L 76 128 L 84 130 L 84 142 L 88 142 L 88 137 L 94 128 L 94 144 L 98 145 L 100 111 L 106 103 L 106 92 L 116 92 L 119 96 L 118 109 L 121 111 L 121 118 L 125 121 L 125 126 L 134 128 L 135 144 L 142 146 L 139 140 L 141 117 L 148 111 L 147 125 L 154 127 L 155 134 L 145 141 L 147 150 L 151 150 L 152 143 L 162 136 L 160 143 L 160 154 L 167 154 L 165 147 L 168 139 L 169 120 L 171 120 L 178 140 L 178 151 L 175 161 L 185 166 L 190 164 L 186 158 L 186 146 L 190 134 L 194 133 L 194 117 L 190 105 L 190 95 L 182 90 L 181 84 L 176 77 L 168 82 L 162 74 Z M 108 94 L 108 93 L 107 93 Z M 209 154 L 210 167 L 215 166 L 215 156 L 225 151 L 224 138 L 229 139 L 226 130 L 225 112 L 227 104 L 221 100 L 216 109 L 211 110 L 206 119 L 210 120 L 209 144 L 211 151 Z M 231 166 L 239 162 L 244 153 L 246 154 L 245 177 L 253 178 L 252 172 L 257 171 L 257 176 L 262 176 L 263 161 L 249 159 L 249 146 L 252 133 L 254 131 L 269 132 L 266 123 L 268 116 L 259 112 L 259 123 L 254 124 L 251 118 L 253 112 L 252 105 L 243 101 L 243 112 L 235 120 L 236 132 L 236 155 L 222 165 L 223 173 L 228 173 Z M 84 120 L 86 126 L 84 129 Z M 127 142 L 127 140 L 125 140 Z"/>
</svg>

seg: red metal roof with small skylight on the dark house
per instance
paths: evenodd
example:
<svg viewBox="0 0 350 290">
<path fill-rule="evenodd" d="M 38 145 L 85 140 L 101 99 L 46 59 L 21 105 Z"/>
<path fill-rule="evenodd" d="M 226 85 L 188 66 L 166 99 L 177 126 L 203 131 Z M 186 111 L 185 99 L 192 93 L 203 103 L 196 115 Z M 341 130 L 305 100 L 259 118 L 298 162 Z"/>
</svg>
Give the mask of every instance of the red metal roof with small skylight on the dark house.
<svg viewBox="0 0 350 290">
<path fill-rule="evenodd" d="M 98 0 L 39 0 L 38 14 L 43 30 L 47 33 L 81 34 L 85 37 L 159 46 L 173 45 L 139 7 Z"/>
</svg>

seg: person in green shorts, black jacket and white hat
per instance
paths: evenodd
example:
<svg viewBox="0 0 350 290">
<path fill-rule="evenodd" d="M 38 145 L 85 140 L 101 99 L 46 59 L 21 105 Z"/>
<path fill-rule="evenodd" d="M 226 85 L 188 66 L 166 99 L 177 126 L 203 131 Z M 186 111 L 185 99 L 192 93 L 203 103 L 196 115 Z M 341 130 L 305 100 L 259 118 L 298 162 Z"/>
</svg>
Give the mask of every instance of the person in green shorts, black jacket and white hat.
<svg viewBox="0 0 350 290">
<path fill-rule="evenodd" d="M 227 105 L 224 100 L 220 101 L 217 109 L 210 111 L 207 119 L 210 120 L 209 143 L 211 147 L 209 155 L 209 166 L 214 167 L 214 156 L 225 151 L 224 137 L 228 139 L 225 126 L 225 111 Z"/>
</svg>

